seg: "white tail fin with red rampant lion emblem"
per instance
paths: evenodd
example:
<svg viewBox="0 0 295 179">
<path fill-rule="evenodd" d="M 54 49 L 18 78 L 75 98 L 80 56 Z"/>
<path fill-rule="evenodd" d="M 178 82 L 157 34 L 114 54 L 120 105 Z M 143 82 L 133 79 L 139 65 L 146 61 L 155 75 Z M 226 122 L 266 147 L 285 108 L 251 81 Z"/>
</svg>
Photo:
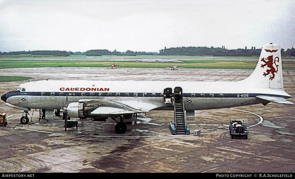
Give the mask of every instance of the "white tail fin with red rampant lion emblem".
<svg viewBox="0 0 295 179">
<path fill-rule="evenodd" d="M 277 44 L 265 44 L 257 66 L 245 82 L 256 88 L 283 89 L 281 48 Z"/>
</svg>

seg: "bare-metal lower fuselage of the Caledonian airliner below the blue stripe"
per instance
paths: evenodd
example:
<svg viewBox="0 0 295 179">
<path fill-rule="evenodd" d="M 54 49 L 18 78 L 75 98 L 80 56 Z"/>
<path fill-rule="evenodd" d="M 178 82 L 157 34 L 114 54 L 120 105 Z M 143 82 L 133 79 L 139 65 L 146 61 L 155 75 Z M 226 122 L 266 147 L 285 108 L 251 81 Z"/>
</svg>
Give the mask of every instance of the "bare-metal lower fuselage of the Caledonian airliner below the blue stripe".
<svg viewBox="0 0 295 179">
<path fill-rule="evenodd" d="M 238 96 L 238 94 L 230 94 L 231 96 Z M 255 94 L 257 96 L 259 94 Z M 226 96 L 226 94 L 224 94 Z M 230 108 L 237 106 L 247 106 L 265 101 L 255 98 L 254 95 L 247 95 L 251 97 L 183 97 L 185 110 L 206 110 L 218 108 Z M 253 97 L 252 97 L 253 96 Z M 153 103 L 157 106 L 153 110 L 173 110 L 173 104 L 164 104 L 163 97 L 126 97 L 126 96 L 29 96 L 19 95 L 11 96 L 7 102 L 15 106 L 29 108 L 29 109 L 61 109 L 66 103 L 77 102 L 81 99 L 100 99 L 107 101 L 115 101 L 118 103 L 125 103 L 126 101 L 139 103 Z"/>
</svg>

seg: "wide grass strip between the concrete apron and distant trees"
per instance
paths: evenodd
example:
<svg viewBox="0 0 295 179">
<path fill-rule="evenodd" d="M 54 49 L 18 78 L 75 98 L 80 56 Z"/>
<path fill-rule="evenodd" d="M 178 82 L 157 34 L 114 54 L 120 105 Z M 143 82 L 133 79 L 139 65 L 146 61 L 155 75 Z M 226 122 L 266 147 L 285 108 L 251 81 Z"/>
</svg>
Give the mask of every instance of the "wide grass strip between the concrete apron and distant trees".
<svg viewBox="0 0 295 179">
<path fill-rule="evenodd" d="M 295 69 L 295 58 L 283 58 L 283 69 Z M 286 61 L 288 60 L 288 61 Z M 0 58 L 0 69 L 35 67 L 106 67 L 121 64 L 119 68 L 165 68 L 177 65 L 183 68 L 254 69 L 258 57 L 212 56 L 69 56 L 27 57 L 6 56 Z"/>
</svg>

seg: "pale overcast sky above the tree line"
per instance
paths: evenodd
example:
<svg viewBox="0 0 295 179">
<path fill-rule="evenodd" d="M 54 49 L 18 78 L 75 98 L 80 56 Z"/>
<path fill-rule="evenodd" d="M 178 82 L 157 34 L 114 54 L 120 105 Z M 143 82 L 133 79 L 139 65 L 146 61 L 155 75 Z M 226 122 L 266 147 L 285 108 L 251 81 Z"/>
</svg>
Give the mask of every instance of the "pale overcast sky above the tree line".
<svg viewBox="0 0 295 179">
<path fill-rule="evenodd" d="M 294 0 L 0 0 L 0 51 L 295 47 Z"/>
</svg>

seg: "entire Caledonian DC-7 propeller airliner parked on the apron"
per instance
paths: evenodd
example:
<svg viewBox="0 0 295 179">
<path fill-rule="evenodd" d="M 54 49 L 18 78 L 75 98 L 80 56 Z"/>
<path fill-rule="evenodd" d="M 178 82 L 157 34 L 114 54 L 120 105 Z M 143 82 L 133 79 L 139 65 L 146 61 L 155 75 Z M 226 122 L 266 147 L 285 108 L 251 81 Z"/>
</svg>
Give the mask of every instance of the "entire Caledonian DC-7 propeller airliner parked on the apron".
<svg viewBox="0 0 295 179">
<path fill-rule="evenodd" d="M 293 104 L 283 89 L 280 46 L 265 44 L 253 73 L 242 81 L 89 81 L 43 80 L 19 85 L 1 96 L 6 105 L 25 111 L 45 109 L 45 118 L 61 110 L 71 118 L 120 117 L 115 131 L 124 133 L 124 118 L 150 110 L 175 110 L 183 105 L 186 117 L 195 110 L 230 108 L 269 102 Z M 174 92 L 173 92 L 174 89 Z M 123 116 L 123 117 L 122 117 Z"/>
</svg>

